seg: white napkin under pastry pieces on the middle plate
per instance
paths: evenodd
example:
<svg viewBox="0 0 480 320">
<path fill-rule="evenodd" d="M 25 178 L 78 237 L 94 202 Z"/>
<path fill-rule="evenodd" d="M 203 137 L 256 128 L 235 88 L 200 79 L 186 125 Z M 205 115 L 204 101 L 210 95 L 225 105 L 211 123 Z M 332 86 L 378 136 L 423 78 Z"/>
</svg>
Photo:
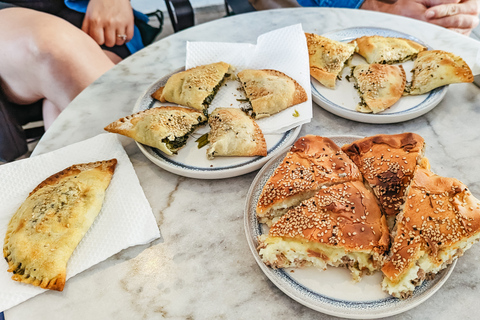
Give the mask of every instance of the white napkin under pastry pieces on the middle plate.
<svg viewBox="0 0 480 320">
<path fill-rule="evenodd" d="M 274 69 L 296 80 L 306 91 L 308 100 L 271 117 L 259 119 L 264 134 L 282 133 L 312 118 L 310 67 L 307 41 L 301 24 L 277 29 L 258 37 L 257 44 L 223 42 L 187 42 L 187 69 L 224 61 L 238 73 L 244 69 Z M 240 83 L 229 81 L 210 105 L 217 107 L 242 107 L 237 101 L 244 98 Z M 297 111 L 297 112 L 295 112 Z M 295 114 L 295 116 L 294 116 Z"/>
</svg>

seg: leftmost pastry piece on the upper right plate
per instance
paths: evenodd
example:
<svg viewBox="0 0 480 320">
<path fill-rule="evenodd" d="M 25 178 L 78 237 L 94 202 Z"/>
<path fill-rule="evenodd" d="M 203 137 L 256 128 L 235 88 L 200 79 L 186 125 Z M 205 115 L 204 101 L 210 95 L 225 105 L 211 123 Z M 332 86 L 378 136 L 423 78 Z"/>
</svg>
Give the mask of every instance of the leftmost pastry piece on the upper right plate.
<svg viewBox="0 0 480 320">
<path fill-rule="evenodd" d="M 334 89 L 335 81 L 353 56 L 355 43 L 342 43 L 313 33 L 305 33 L 310 59 L 310 75 L 325 87 Z"/>
</svg>

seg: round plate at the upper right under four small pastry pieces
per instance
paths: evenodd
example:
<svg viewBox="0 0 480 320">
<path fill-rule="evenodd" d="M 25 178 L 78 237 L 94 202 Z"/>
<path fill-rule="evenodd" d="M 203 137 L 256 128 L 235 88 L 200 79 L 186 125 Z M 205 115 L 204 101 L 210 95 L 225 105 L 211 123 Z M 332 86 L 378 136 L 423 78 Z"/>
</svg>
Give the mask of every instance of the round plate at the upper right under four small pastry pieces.
<svg viewBox="0 0 480 320">
<path fill-rule="evenodd" d="M 432 49 L 419 39 L 408 34 L 383 28 L 357 27 L 323 34 L 324 37 L 341 42 L 349 42 L 362 36 L 372 35 L 406 38 L 426 46 L 428 50 Z M 350 64 L 358 65 L 363 63 L 366 63 L 365 59 L 355 54 Z M 401 63 L 401 65 L 405 70 L 407 81 L 411 81 L 410 70 L 413 69 L 413 61 L 407 61 Z M 333 90 L 311 78 L 312 99 L 319 106 L 337 116 L 359 122 L 396 123 L 419 117 L 439 104 L 448 89 L 448 86 L 443 86 L 422 95 L 401 97 L 393 106 L 377 114 L 361 113 L 355 110 L 360 102 L 357 89 L 353 86 L 353 80 L 348 82 L 346 79 L 346 76 L 350 74 L 350 70 L 350 67 L 343 69 L 342 80 L 337 80 Z"/>
</svg>

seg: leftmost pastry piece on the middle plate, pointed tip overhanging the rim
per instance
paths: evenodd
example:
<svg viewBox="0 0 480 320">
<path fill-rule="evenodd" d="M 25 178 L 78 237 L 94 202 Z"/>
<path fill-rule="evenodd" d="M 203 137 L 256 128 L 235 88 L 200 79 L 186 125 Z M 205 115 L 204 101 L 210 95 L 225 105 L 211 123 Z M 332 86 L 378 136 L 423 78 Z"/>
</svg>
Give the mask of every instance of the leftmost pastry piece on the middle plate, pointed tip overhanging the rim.
<svg viewBox="0 0 480 320">
<path fill-rule="evenodd" d="M 207 117 L 199 111 L 182 107 L 158 107 L 114 121 L 105 130 L 172 155 L 185 146 L 195 129 L 206 123 Z"/>
</svg>

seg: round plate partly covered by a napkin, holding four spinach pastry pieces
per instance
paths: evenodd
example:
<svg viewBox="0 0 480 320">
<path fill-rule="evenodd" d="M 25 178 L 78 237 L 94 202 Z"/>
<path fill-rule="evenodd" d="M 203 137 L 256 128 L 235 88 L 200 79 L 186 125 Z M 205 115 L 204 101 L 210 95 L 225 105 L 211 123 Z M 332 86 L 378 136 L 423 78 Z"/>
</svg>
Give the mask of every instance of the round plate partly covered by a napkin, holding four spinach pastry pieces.
<svg viewBox="0 0 480 320">
<path fill-rule="evenodd" d="M 178 69 L 152 84 L 147 91 L 137 100 L 133 112 L 150 109 L 159 106 L 171 106 L 175 104 L 160 103 L 153 99 L 151 94 L 163 87 L 168 78 L 174 73 L 185 70 Z M 154 164 L 172 173 L 197 179 L 223 179 L 236 177 L 261 168 L 270 158 L 291 146 L 301 126 L 291 129 L 283 134 L 265 135 L 268 154 L 266 157 L 217 157 L 207 159 L 207 146 L 199 149 L 195 140 L 209 132 L 208 125 L 199 128 L 188 139 L 187 145 L 178 151 L 178 154 L 168 156 L 162 151 L 137 142 L 143 154 Z"/>
</svg>

